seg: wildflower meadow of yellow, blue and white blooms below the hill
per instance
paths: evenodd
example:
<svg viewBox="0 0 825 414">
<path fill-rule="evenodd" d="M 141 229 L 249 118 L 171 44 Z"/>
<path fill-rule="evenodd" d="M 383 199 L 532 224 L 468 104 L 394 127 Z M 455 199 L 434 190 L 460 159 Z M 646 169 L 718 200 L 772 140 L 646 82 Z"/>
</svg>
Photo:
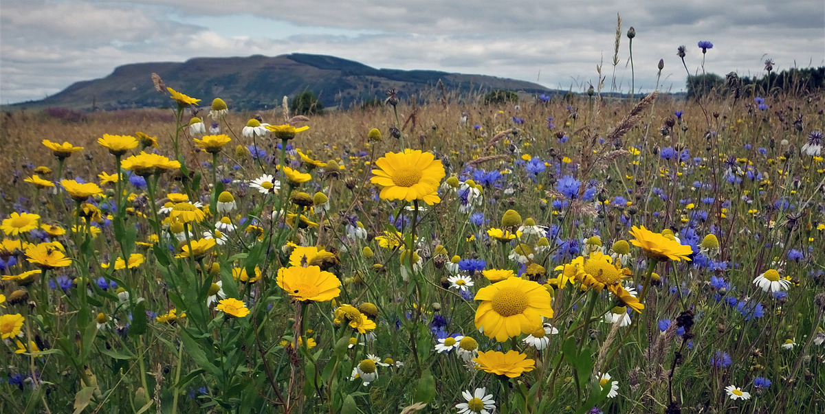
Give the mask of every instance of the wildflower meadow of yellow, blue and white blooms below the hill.
<svg viewBox="0 0 825 414">
<path fill-rule="evenodd" d="M 0 412 L 825 411 L 821 94 L 166 96 L 3 115 Z"/>
</svg>

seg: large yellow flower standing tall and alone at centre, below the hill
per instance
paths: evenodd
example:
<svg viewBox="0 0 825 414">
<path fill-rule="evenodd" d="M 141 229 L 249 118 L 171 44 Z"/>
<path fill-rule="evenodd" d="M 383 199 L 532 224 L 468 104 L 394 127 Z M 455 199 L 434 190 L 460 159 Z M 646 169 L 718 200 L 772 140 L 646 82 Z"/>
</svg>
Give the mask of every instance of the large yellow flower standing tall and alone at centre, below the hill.
<svg viewBox="0 0 825 414">
<path fill-rule="evenodd" d="M 370 182 L 381 186 L 383 200 L 422 200 L 428 205 L 441 202 L 436 191 L 446 176 L 441 160 L 432 153 L 405 149 L 403 153 L 386 153 L 375 161 L 379 169 Z"/>
</svg>

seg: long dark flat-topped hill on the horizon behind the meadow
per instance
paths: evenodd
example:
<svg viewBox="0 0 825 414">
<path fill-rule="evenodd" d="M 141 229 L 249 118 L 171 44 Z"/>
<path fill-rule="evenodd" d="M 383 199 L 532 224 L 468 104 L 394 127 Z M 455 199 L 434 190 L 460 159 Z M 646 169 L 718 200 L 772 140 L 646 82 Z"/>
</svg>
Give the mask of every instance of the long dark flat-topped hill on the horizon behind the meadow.
<svg viewBox="0 0 825 414">
<path fill-rule="evenodd" d="M 501 88 L 530 94 L 557 93 L 533 82 L 486 75 L 434 70 L 376 69 L 352 60 L 320 54 L 252 55 L 245 58 L 195 58 L 186 62 L 127 64 L 106 78 L 76 82 L 41 101 L 13 104 L 12 108 L 52 106 L 74 110 L 118 110 L 171 105 L 151 79 L 158 73 L 167 86 L 201 99 L 208 106 L 215 97 L 237 110 L 269 109 L 283 96 L 310 90 L 324 106 L 349 108 L 396 88 L 401 96 L 432 91 L 439 80 L 447 91 L 462 94 Z"/>
</svg>

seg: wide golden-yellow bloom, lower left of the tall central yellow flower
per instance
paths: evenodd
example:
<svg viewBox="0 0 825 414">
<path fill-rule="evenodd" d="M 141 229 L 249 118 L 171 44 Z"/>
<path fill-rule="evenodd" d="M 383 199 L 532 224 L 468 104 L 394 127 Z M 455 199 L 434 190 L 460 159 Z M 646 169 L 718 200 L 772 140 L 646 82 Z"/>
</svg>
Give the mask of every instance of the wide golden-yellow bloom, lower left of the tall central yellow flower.
<svg viewBox="0 0 825 414">
<path fill-rule="evenodd" d="M 341 280 L 318 266 L 290 266 L 278 270 L 277 284 L 301 301 L 326 302 L 341 294 Z"/>
</svg>

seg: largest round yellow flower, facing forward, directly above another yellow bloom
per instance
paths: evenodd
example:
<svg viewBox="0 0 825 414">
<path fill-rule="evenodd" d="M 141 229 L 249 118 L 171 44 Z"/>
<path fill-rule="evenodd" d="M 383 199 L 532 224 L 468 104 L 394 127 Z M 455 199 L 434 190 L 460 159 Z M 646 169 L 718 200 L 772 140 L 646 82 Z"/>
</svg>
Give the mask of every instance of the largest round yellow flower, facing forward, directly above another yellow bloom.
<svg viewBox="0 0 825 414">
<path fill-rule="evenodd" d="M 531 280 L 511 277 L 475 294 L 481 300 L 475 311 L 475 327 L 496 341 L 535 331 L 541 318 L 553 318 L 550 294 Z"/>
</svg>

